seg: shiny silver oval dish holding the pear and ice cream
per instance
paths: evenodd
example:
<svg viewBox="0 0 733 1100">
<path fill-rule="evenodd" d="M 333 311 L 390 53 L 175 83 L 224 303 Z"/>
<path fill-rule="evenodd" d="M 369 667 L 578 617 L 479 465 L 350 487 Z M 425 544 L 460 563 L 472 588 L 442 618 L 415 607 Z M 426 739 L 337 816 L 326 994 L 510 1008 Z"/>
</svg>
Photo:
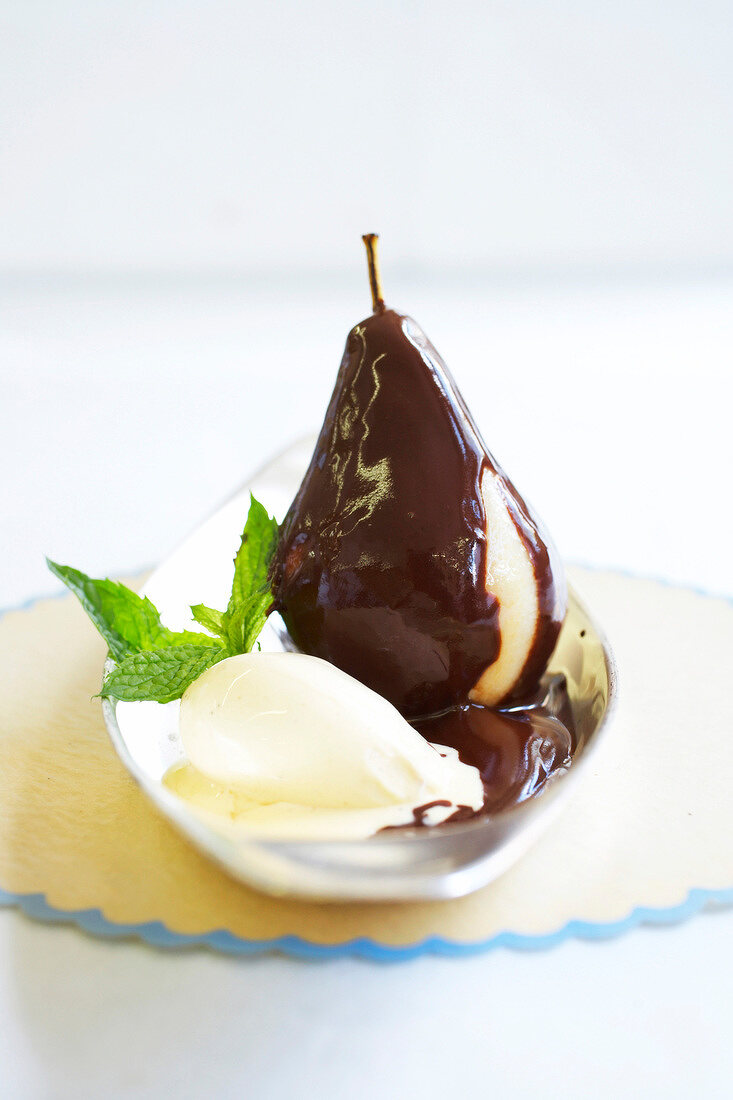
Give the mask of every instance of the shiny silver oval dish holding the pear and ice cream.
<svg viewBox="0 0 733 1100">
<path fill-rule="evenodd" d="M 200 525 L 149 578 L 143 593 L 174 629 L 190 623 L 189 604 L 225 606 L 252 492 L 283 517 L 313 453 L 308 438 L 274 459 Z M 293 648 L 272 616 L 261 638 L 264 651 Z M 105 721 L 122 762 L 168 821 L 204 855 L 234 878 L 275 895 L 322 901 L 409 901 L 457 898 L 505 871 L 549 825 L 581 780 L 588 759 L 608 729 L 615 671 L 602 631 L 570 592 L 568 613 L 547 678 L 562 676 L 575 729 L 572 762 L 535 795 L 504 812 L 427 828 L 393 829 L 360 840 L 272 839 L 233 835 L 217 826 L 164 783 L 184 759 L 179 704 L 102 701 Z"/>
</svg>

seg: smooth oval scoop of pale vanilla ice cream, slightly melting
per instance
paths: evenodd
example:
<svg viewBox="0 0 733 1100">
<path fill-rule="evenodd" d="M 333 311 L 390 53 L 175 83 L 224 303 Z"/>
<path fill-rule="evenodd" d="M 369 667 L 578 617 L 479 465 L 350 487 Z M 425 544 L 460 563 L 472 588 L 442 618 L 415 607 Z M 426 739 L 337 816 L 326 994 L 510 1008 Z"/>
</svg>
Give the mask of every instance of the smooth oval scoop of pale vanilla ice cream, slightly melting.
<svg viewBox="0 0 733 1100">
<path fill-rule="evenodd" d="M 483 802 L 475 768 L 434 748 L 391 703 L 317 657 L 245 653 L 215 664 L 184 694 L 179 730 L 198 771 L 261 806 Z"/>
</svg>

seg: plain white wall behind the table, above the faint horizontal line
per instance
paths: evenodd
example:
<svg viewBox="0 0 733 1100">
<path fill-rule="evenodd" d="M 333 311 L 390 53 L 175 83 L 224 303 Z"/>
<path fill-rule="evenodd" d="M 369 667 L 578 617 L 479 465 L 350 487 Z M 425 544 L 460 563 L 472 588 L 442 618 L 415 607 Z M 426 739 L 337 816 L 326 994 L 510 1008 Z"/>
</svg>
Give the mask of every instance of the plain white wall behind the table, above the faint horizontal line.
<svg viewBox="0 0 733 1100">
<path fill-rule="evenodd" d="M 7 266 L 730 265 L 726 0 L 3 0 Z"/>
</svg>

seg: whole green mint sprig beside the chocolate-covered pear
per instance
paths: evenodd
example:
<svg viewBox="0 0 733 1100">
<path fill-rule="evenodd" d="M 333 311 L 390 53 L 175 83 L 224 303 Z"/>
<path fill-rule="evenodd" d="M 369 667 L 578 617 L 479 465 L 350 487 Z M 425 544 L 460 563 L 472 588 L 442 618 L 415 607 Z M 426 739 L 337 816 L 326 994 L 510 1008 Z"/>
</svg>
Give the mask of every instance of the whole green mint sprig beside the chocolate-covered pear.
<svg viewBox="0 0 733 1100">
<path fill-rule="evenodd" d="M 171 630 L 146 596 L 46 559 L 52 573 L 77 596 L 116 661 L 101 694 L 124 702 L 169 703 L 212 664 L 249 653 L 272 609 L 269 572 L 277 530 L 276 520 L 250 496 L 226 612 L 205 604 L 190 608 L 194 620 L 209 634 Z"/>
</svg>

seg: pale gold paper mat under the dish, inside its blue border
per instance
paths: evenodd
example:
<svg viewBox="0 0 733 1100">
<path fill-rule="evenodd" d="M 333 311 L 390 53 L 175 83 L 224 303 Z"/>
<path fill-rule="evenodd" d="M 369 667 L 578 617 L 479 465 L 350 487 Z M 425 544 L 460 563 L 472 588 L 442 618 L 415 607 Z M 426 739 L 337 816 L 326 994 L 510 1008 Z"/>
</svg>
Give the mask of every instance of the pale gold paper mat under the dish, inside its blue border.
<svg viewBox="0 0 733 1100">
<path fill-rule="evenodd" d="M 470 898 L 315 904 L 229 879 L 149 805 L 107 738 L 105 647 L 70 597 L 0 620 L 0 889 L 65 911 L 161 921 L 183 934 L 315 944 L 429 936 L 475 943 L 613 922 L 733 888 L 733 606 L 656 582 L 575 569 L 604 626 L 621 700 L 571 804 L 535 848 Z"/>
</svg>

